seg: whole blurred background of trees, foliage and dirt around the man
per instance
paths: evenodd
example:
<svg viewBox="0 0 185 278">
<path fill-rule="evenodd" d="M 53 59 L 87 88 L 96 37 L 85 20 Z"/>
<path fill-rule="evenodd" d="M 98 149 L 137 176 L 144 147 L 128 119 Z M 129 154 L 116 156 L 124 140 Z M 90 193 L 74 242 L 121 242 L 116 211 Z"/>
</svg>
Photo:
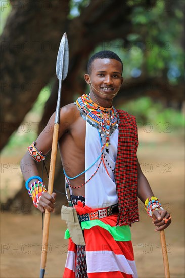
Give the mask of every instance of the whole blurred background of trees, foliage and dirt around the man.
<svg viewBox="0 0 185 278">
<path fill-rule="evenodd" d="M 184 277 L 184 6 L 183 0 L 0 1 L 1 277 L 39 275 L 42 217 L 25 190 L 20 160 L 55 112 L 64 32 L 69 71 L 61 106 L 88 92 L 83 75 L 92 54 L 111 50 L 123 61 L 124 82 L 114 106 L 136 116 L 141 168 L 172 215 L 166 230 L 171 277 Z M 49 163 L 50 154 L 48 169 Z M 47 184 L 45 171 L 43 176 Z M 54 191 L 64 193 L 59 154 Z M 63 273 L 65 203 L 58 193 L 46 277 Z M 159 235 L 139 204 L 141 221 L 132 227 L 138 275 L 164 277 Z"/>
</svg>

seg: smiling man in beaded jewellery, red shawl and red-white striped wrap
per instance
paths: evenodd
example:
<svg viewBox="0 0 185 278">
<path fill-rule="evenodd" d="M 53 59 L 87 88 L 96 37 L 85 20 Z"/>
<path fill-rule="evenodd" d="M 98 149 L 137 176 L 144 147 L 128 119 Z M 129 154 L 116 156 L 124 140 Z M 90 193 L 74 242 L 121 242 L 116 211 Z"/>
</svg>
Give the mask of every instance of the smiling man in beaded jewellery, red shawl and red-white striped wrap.
<svg viewBox="0 0 185 278">
<path fill-rule="evenodd" d="M 138 163 L 135 117 L 112 106 L 123 82 L 122 71 L 122 61 L 115 53 L 96 53 L 84 75 L 90 94 L 60 111 L 59 150 L 69 201 L 77 211 L 85 240 L 85 245 L 76 245 L 66 231 L 70 252 L 64 277 L 137 277 L 129 229 L 138 221 L 137 196 L 153 217 L 155 231 L 171 223 Z M 45 127 L 28 147 L 22 164 L 32 165 L 33 159 L 39 162 L 49 152 L 54 118 L 55 113 L 48 123 L 50 132 Z M 52 212 L 56 194 L 47 193 L 36 167 L 26 173 L 24 166 L 24 171 L 34 205 L 41 212 Z"/>
</svg>

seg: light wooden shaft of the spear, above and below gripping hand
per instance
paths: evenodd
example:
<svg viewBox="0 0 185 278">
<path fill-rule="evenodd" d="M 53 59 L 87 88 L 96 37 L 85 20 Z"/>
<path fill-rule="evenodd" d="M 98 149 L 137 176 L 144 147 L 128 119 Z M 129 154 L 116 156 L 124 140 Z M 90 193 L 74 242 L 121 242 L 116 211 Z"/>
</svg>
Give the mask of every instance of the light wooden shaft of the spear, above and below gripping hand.
<svg viewBox="0 0 185 278">
<path fill-rule="evenodd" d="M 50 161 L 49 183 L 48 183 L 48 193 L 50 195 L 53 192 L 58 134 L 59 134 L 59 124 L 55 123 L 54 124 L 54 132 L 53 132 L 51 161 Z M 46 209 L 45 217 L 44 217 L 44 226 L 43 226 L 40 278 L 44 277 L 44 272 L 45 272 L 45 265 L 46 265 L 46 260 L 47 260 L 47 250 L 48 250 L 49 225 L 50 225 L 50 212 Z"/>
</svg>

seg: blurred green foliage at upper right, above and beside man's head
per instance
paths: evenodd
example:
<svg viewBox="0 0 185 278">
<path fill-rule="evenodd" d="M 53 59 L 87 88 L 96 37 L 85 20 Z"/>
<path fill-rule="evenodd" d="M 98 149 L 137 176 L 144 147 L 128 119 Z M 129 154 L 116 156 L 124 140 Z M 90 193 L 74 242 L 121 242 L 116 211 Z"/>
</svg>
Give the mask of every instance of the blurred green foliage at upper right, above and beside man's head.
<svg viewBox="0 0 185 278">
<path fill-rule="evenodd" d="M 123 61 L 125 79 L 166 75 L 172 85 L 183 82 L 182 1 L 160 0 L 154 6 L 147 6 L 145 1 L 128 1 L 127 5 L 133 8 L 133 32 L 125 39 L 103 41 L 91 55 L 101 50 L 114 51 Z"/>
</svg>

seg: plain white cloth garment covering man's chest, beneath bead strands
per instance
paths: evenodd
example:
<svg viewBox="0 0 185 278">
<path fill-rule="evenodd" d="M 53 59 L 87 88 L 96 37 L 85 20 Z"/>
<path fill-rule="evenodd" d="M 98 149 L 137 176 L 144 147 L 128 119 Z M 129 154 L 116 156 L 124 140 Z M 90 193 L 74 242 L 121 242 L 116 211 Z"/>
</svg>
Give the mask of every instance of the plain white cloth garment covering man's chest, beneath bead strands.
<svg viewBox="0 0 185 278">
<path fill-rule="evenodd" d="M 105 157 L 114 170 L 117 157 L 118 129 L 115 129 L 113 134 L 111 134 L 110 143 L 109 153 Z M 97 160 L 100 154 L 101 142 L 98 129 L 86 122 L 85 170 Z M 100 159 L 85 172 L 85 182 L 96 171 Z M 110 176 L 107 174 L 103 163 L 101 163 L 94 177 L 85 184 L 85 204 L 91 208 L 103 208 L 118 203 L 114 173 L 108 163 L 105 161 Z"/>
</svg>

